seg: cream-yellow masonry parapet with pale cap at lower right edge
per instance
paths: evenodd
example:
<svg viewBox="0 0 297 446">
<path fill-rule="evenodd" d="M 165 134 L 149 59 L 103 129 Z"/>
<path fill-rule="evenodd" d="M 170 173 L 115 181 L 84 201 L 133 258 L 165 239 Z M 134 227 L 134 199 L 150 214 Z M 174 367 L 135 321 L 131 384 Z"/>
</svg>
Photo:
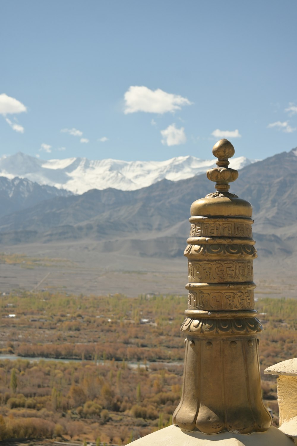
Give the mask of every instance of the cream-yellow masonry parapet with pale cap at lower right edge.
<svg viewBox="0 0 297 446">
<path fill-rule="evenodd" d="M 287 359 L 264 370 L 278 375 L 277 402 L 280 412 L 280 430 L 297 444 L 297 358 Z"/>
</svg>

